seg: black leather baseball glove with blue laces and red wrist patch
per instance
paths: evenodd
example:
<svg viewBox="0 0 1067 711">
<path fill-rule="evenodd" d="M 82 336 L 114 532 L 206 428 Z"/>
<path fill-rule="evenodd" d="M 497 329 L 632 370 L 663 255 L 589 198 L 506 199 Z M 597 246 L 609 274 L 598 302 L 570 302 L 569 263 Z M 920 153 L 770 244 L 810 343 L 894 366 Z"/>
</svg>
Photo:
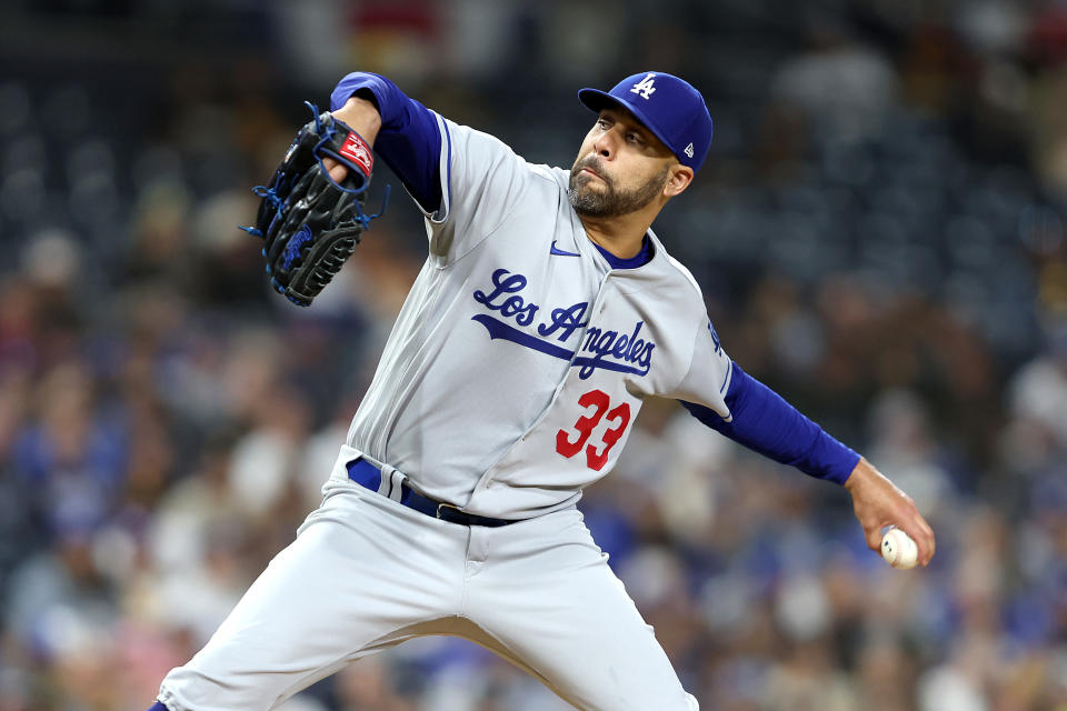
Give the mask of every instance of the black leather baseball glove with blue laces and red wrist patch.
<svg viewBox="0 0 1067 711">
<path fill-rule="evenodd" d="M 270 183 L 252 188 L 261 198 L 256 224 L 241 228 L 263 238 L 271 286 L 301 307 L 311 304 L 381 214 L 363 213 L 375 164 L 370 147 L 329 112 L 305 103 L 315 120 L 297 133 Z M 341 183 L 322 164 L 325 157 L 348 169 Z"/>
</svg>

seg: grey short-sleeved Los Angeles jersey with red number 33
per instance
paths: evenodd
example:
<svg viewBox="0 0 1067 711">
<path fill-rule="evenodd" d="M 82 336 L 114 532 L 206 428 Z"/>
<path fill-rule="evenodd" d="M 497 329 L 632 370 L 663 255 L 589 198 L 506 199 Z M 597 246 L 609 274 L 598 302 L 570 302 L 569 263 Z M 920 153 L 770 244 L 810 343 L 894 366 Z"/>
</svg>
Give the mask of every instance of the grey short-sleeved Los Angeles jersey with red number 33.
<svg viewBox="0 0 1067 711">
<path fill-rule="evenodd" d="M 607 474 L 647 395 L 728 421 L 731 361 L 656 236 L 648 263 L 612 269 L 570 206 L 568 171 L 437 120 L 429 259 L 348 443 L 427 495 L 523 519 Z"/>
</svg>

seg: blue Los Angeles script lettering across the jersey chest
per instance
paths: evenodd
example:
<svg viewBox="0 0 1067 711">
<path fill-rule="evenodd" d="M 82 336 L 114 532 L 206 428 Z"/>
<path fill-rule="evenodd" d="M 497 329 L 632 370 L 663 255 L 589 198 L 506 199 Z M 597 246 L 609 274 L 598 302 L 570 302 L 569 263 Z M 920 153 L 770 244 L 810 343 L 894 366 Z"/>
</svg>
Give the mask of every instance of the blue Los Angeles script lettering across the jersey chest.
<svg viewBox="0 0 1067 711">
<path fill-rule="evenodd" d="M 512 319 L 517 326 L 529 327 L 535 322 L 541 307 L 519 296 L 519 292 L 526 289 L 527 283 L 527 278 L 523 274 L 511 273 L 507 269 L 498 269 L 492 272 L 492 291 L 489 293 L 480 289 L 475 291 L 475 301 L 490 311 L 497 311 L 500 316 Z M 589 321 L 586 319 L 588 310 L 589 302 L 587 301 L 580 301 L 571 307 L 552 309 L 549 319 L 537 326 L 537 333 L 544 339 L 555 337 L 558 341 L 566 342 L 576 330 L 589 326 Z M 576 359 L 576 364 L 581 361 L 581 372 L 579 374 L 582 378 L 588 378 L 596 368 L 602 368 L 608 362 L 634 363 L 636 368 L 626 370 L 642 375 L 647 374 L 652 362 L 652 350 L 656 344 L 639 338 L 644 326 L 644 321 L 638 321 L 630 333 L 621 334 L 610 329 L 589 327 L 586 330 L 579 352 L 591 353 L 592 357 Z"/>
</svg>

